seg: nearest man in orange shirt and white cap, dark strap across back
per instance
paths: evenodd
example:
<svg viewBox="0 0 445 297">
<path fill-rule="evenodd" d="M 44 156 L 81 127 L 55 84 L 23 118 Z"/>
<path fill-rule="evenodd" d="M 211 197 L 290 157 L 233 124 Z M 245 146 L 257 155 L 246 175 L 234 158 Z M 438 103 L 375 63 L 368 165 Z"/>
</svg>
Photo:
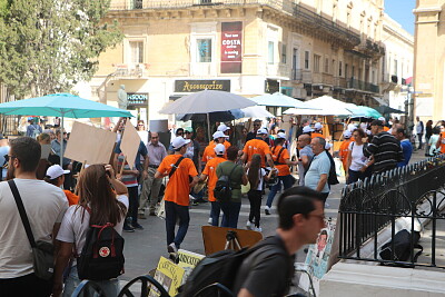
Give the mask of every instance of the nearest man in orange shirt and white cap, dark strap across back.
<svg viewBox="0 0 445 297">
<path fill-rule="evenodd" d="M 171 142 L 175 154 L 168 155 L 158 167 L 155 178 L 169 176 L 169 180 L 164 195 L 166 207 L 166 230 L 167 230 L 167 250 L 168 253 L 177 253 L 180 244 L 186 237 L 190 215 L 188 206 L 190 204 L 189 192 L 199 180 L 198 171 L 194 161 L 184 158 L 187 151 L 187 143 L 182 137 L 176 137 Z M 190 182 L 189 178 L 192 178 Z M 175 236 L 176 219 L 179 218 L 178 232 Z"/>
</svg>

